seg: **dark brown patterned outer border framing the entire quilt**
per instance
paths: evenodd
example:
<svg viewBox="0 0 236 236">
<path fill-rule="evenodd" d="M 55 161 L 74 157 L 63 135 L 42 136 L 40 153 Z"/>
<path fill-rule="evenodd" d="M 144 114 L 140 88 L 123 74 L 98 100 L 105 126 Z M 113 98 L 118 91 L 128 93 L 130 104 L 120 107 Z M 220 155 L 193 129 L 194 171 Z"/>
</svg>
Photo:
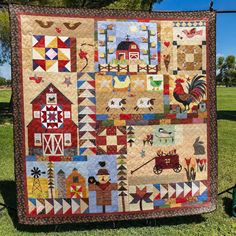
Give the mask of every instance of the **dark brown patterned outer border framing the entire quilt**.
<svg viewBox="0 0 236 236">
<path fill-rule="evenodd" d="M 19 14 L 42 14 L 42 15 L 67 15 L 78 17 L 125 17 L 125 18 L 146 18 L 146 19 L 192 19 L 204 18 L 208 22 L 207 34 L 207 78 L 208 78 L 208 151 L 210 158 L 210 205 L 201 207 L 188 207 L 181 209 L 166 209 L 158 212 L 137 212 L 92 216 L 57 216 L 57 217 L 28 217 L 26 209 L 25 186 L 26 177 L 22 175 L 25 171 L 24 160 L 24 119 L 23 119 L 23 86 L 21 83 L 21 52 L 18 50 L 20 41 L 20 29 L 18 28 Z M 111 17 L 112 16 L 112 17 Z M 215 11 L 192 11 L 192 12 L 148 12 L 148 11 L 127 11 L 127 10 L 96 10 L 96 9 L 73 9 L 73 8 L 52 8 L 10 5 L 11 17 L 11 45 L 12 45 L 12 78 L 13 78 L 13 124 L 14 124 L 14 158 L 15 158 L 15 179 L 17 186 L 17 209 L 20 224 L 60 224 L 96 221 L 116 221 L 130 219 L 148 219 L 160 217 L 173 217 L 183 215 L 195 215 L 210 212 L 216 209 L 217 197 L 217 115 L 216 115 L 216 12 Z M 210 118 L 210 119 L 209 119 Z"/>
</svg>

